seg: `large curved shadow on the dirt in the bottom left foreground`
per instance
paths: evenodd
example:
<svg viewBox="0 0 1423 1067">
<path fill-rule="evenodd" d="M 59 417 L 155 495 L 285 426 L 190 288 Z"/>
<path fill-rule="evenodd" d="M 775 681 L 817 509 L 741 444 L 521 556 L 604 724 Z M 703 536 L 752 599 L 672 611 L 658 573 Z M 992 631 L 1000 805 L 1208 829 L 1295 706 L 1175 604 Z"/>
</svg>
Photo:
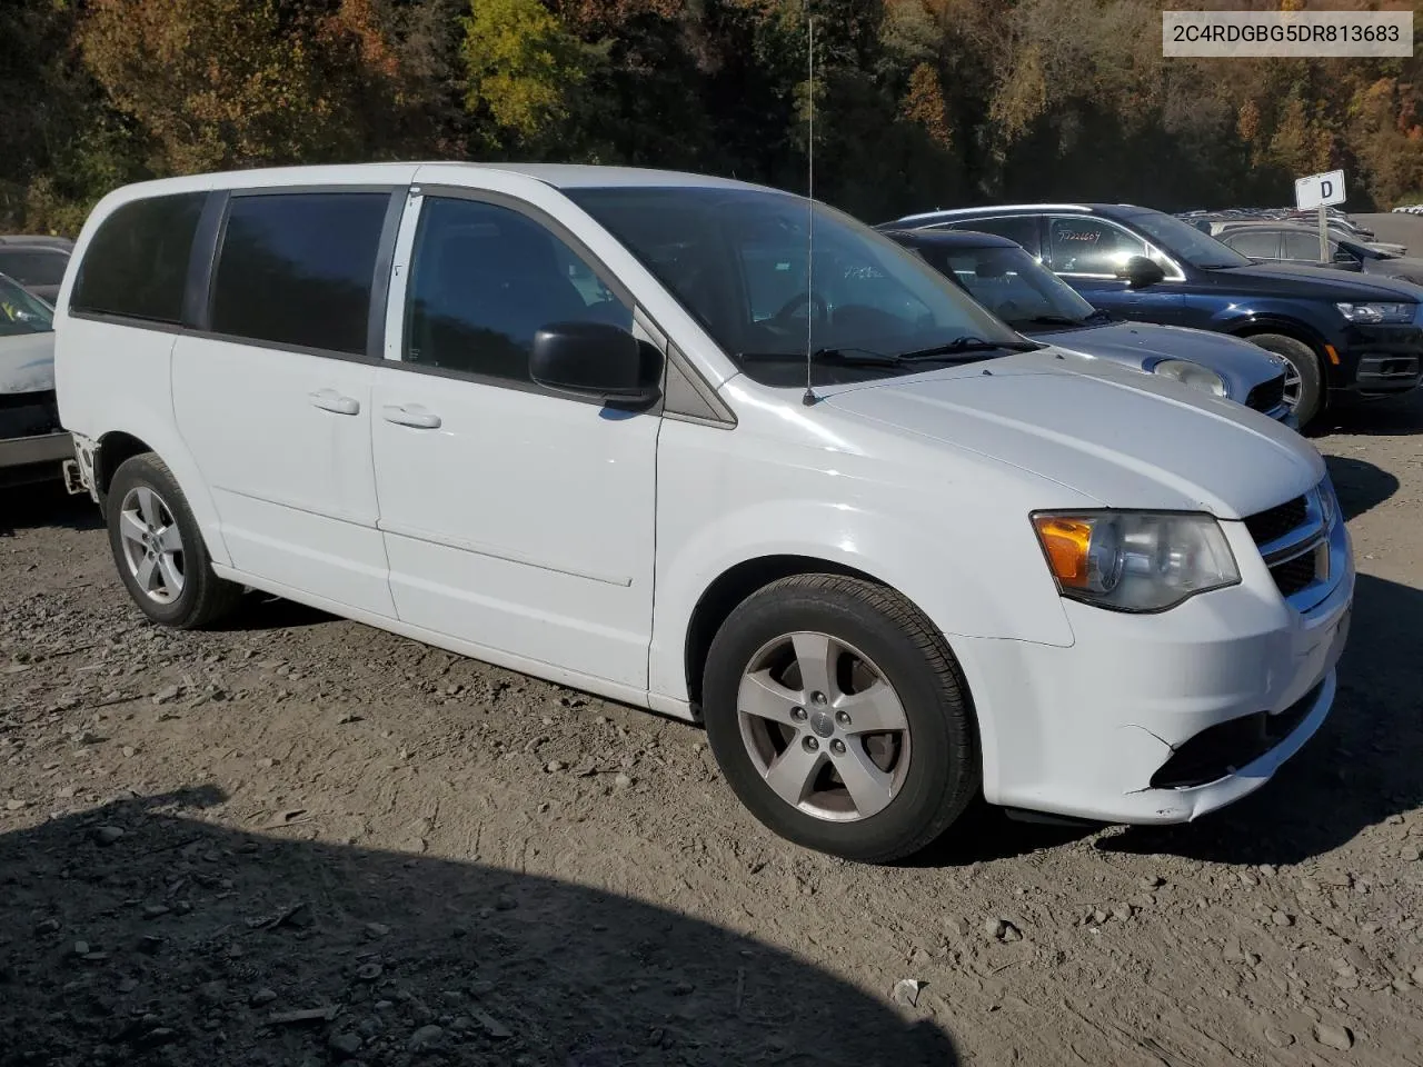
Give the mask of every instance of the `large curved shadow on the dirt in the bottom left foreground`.
<svg viewBox="0 0 1423 1067">
<path fill-rule="evenodd" d="M 195 818 L 223 800 L 0 838 L 0 1064 L 958 1063 L 932 1023 L 710 923 Z"/>
</svg>

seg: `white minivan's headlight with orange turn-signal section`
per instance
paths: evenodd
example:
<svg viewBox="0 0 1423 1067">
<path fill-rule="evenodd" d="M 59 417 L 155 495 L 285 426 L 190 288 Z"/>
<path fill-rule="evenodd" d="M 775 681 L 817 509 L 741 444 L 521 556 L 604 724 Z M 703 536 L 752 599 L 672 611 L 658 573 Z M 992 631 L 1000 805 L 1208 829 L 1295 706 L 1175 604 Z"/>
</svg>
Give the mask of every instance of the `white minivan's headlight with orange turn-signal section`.
<svg viewBox="0 0 1423 1067">
<path fill-rule="evenodd" d="M 1161 612 L 1241 580 L 1210 515 L 1036 512 L 1033 528 L 1059 592 L 1116 612 Z"/>
</svg>

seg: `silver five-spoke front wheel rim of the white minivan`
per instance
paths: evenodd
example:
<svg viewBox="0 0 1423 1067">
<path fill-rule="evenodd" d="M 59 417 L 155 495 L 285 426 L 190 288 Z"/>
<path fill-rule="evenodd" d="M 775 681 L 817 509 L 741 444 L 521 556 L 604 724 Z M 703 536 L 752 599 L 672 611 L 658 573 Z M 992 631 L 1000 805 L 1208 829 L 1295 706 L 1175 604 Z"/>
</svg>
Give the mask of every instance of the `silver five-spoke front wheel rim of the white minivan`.
<svg viewBox="0 0 1423 1067">
<path fill-rule="evenodd" d="M 825 633 L 764 644 L 737 693 L 741 740 L 787 804 L 822 819 L 882 811 L 909 770 L 909 723 L 884 671 Z"/>
</svg>

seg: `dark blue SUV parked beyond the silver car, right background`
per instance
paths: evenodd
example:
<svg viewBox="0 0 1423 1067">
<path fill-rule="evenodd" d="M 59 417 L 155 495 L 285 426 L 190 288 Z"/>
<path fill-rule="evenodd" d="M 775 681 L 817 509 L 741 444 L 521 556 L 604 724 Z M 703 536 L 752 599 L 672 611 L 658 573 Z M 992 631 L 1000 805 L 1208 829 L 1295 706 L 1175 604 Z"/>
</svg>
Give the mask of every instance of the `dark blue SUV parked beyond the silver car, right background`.
<svg viewBox="0 0 1423 1067">
<path fill-rule="evenodd" d="M 1181 219 L 1127 203 L 1032 203 L 911 215 L 896 229 L 973 229 L 1017 242 L 1096 307 L 1247 337 L 1284 356 L 1301 427 L 1331 396 L 1423 381 L 1423 286 L 1319 266 L 1262 265 Z"/>
</svg>

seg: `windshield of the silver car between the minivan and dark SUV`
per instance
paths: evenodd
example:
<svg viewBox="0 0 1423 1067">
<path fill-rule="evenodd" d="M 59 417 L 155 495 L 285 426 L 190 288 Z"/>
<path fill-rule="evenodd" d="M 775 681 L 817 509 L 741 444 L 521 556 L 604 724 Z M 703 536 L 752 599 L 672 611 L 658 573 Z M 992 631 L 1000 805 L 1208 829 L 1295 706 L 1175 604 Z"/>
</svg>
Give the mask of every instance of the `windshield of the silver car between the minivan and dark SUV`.
<svg viewBox="0 0 1423 1067">
<path fill-rule="evenodd" d="M 1076 289 L 1020 248 L 929 243 L 918 252 L 1015 330 L 1073 326 L 1093 313 Z"/>
</svg>

